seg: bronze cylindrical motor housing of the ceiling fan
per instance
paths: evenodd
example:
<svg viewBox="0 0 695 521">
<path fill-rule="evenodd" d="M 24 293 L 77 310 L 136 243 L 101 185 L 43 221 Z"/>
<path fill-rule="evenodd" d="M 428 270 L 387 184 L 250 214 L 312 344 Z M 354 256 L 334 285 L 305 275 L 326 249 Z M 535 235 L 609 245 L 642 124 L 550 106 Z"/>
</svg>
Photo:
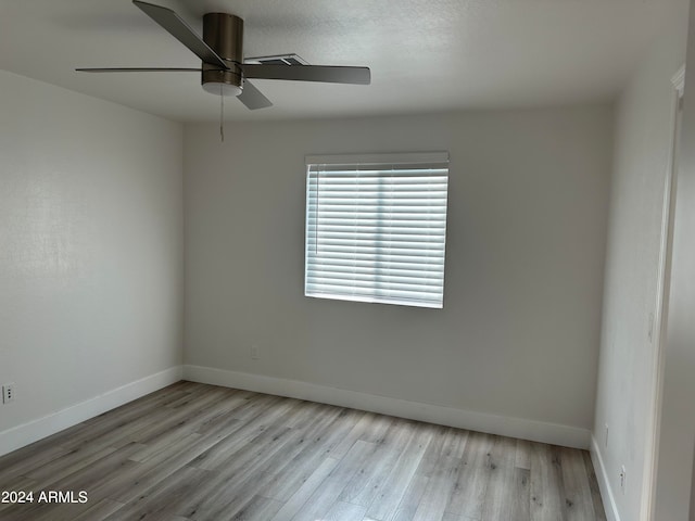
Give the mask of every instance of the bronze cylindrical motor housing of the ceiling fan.
<svg viewBox="0 0 695 521">
<path fill-rule="evenodd" d="M 243 89 L 243 20 L 233 14 L 207 13 L 203 16 L 203 40 L 219 58 L 228 62 L 229 69 L 203 62 L 201 82 L 213 94 L 239 96 Z"/>
</svg>

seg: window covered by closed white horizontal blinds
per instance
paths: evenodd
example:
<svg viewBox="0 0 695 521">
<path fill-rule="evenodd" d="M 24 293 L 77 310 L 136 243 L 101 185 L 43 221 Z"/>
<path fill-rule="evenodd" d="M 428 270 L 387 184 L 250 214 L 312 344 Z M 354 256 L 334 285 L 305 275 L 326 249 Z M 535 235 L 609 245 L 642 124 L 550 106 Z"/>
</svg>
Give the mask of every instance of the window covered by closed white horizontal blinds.
<svg viewBox="0 0 695 521">
<path fill-rule="evenodd" d="M 448 154 L 306 157 L 304 294 L 443 306 Z"/>
</svg>

